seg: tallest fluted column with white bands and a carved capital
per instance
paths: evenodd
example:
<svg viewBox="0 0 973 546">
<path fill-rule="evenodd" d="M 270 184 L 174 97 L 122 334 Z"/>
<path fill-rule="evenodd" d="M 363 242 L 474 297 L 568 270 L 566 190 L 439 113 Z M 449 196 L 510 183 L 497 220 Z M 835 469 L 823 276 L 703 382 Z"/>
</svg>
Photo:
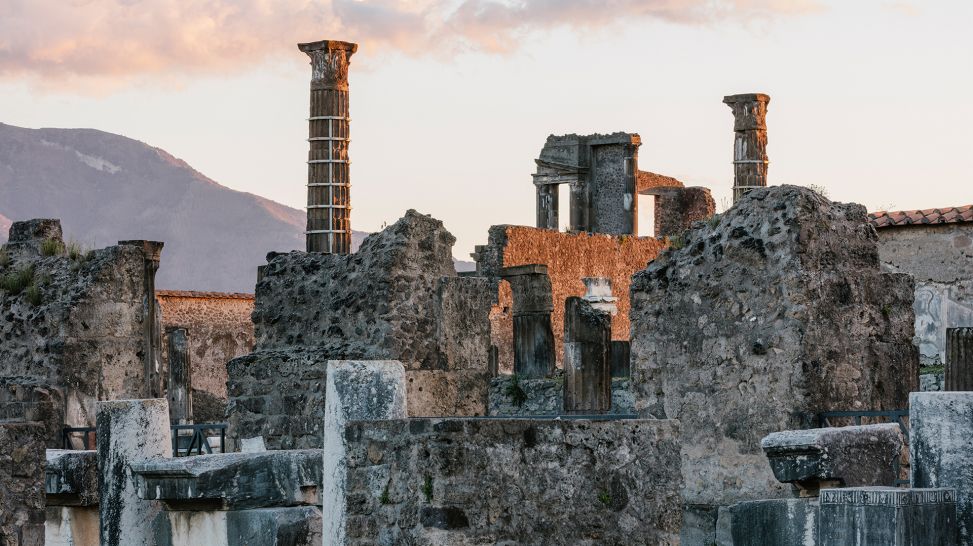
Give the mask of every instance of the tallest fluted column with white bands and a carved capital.
<svg viewBox="0 0 973 546">
<path fill-rule="evenodd" d="M 358 44 L 322 40 L 297 47 L 311 57 L 307 251 L 351 252 L 348 63 Z"/>
</svg>

